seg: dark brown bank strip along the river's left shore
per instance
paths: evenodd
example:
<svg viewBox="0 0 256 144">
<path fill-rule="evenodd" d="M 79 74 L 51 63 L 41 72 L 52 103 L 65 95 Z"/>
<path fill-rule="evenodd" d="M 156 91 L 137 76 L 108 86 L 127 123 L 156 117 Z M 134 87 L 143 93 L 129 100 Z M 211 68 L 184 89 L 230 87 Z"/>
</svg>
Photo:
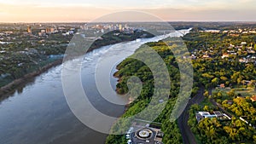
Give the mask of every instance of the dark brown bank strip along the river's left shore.
<svg viewBox="0 0 256 144">
<path fill-rule="evenodd" d="M 18 86 L 20 86 L 20 84 L 25 84 L 27 82 L 27 79 L 34 78 L 34 77 L 48 71 L 53 66 L 58 66 L 61 63 L 62 63 L 62 59 L 55 60 L 54 62 L 51 62 L 51 63 L 47 64 L 46 66 L 40 67 L 37 71 L 30 72 L 30 73 L 26 74 L 25 76 L 23 76 L 22 78 L 15 79 L 13 82 L 1 87 L 0 88 L 0 98 L 2 98 L 4 95 L 7 95 L 7 94 L 15 91 L 15 89 Z"/>
</svg>

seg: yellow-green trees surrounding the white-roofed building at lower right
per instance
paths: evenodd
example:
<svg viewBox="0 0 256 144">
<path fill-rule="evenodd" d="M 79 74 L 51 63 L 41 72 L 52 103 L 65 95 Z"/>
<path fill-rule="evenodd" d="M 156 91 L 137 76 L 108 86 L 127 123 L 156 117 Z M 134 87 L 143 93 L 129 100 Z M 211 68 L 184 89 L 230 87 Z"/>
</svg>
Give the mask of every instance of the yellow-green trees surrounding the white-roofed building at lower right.
<svg viewBox="0 0 256 144">
<path fill-rule="evenodd" d="M 188 124 L 195 135 L 199 135 L 199 141 L 201 141 L 201 143 L 254 141 L 253 135 L 256 135 L 256 131 L 253 127 L 238 118 L 232 118 L 231 121 L 222 121 L 217 118 L 204 118 L 197 123 L 195 112 L 202 110 L 211 112 L 213 110 L 212 107 L 207 107 L 206 109 L 206 106 L 202 108 L 202 106 L 196 104 L 190 107 L 189 110 Z"/>
</svg>

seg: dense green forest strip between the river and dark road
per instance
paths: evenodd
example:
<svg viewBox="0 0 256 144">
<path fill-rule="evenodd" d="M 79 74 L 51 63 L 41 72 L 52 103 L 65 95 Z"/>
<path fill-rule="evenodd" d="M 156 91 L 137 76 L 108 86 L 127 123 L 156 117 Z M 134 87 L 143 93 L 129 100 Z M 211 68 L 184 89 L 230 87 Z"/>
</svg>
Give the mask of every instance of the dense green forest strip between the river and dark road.
<svg viewBox="0 0 256 144">
<path fill-rule="evenodd" d="M 177 94 L 180 87 L 180 73 L 177 68 L 177 61 L 175 60 L 175 56 L 172 54 L 171 50 L 176 48 L 177 45 L 174 44 L 173 46 L 168 47 L 166 46 L 166 43 L 163 43 L 161 41 L 158 43 L 146 43 L 146 45 L 150 48 L 153 48 L 165 61 L 172 82 L 170 95 L 166 103 L 166 107 L 162 112 L 160 112 L 159 117 L 156 118 L 154 122 L 162 124 L 161 130 L 165 133 L 163 138 L 164 143 L 183 143 L 182 135 L 180 134 L 180 131 L 177 127 L 177 122 L 172 123 L 170 121 L 172 109 L 177 100 Z M 134 55 L 137 55 L 137 53 L 142 53 L 142 47 L 140 49 L 137 49 Z M 141 93 L 137 96 L 137 99 L 130 104 L 129 108 L 122 116 L 123 118 L 134 116 L 138 112 L 143 111 L 143 109 L 148 106 L 148 103 L 152 101 L 152 95 L 154 95 L 154 77 L 152 72 L 150 71 L 148 66 L 146 66 L 142 61 L 132 59 L 131 57 L 125 59 L 119 64 L 119 66 L 117 66 L 117 68 L 119 69 L 119 71 L 115 73 L 115 76 L 119 77 L 117 91 L 119 94 L 126 94 L 129 91 L 127 87 L 127 80 L 131 78 L 131 76 L 136 76 L 137 78 L 140 78 L 143 83 L 143 89 Z M 153 65 L 158 65 L 157 61 L 152 60 L 152 62 Z M 150 115 L 150 113 L 148 113 L 148 115 Z M 115 127 L 115 125 L 113 125 L 113 127 Z M 125 140 L 125 135 L 109 135 L 106 141 L 106 144 L 125 143 L 127 143 L 127 140 Z"/>
</svg>

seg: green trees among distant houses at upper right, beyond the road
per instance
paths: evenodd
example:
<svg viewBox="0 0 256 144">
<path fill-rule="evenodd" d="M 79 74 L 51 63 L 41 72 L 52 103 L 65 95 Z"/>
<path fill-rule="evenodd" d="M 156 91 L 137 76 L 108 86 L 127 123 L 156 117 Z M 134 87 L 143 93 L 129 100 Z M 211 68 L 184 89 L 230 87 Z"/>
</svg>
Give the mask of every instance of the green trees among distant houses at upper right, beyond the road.
<svg viewBox="0 0 256 144">
<path fill-rule="evenodd" d="M 255 79 L 256 69 L 253 62 L 241 63 L 239 59 L 248 54 L 236 48 L 230 49 L 230 44 L 239 46 L 242 41 L 255 43 L 254 35 L 245 37 L 231 37 L 223 33 L 190 32 L 183 37 L 191 54 L 197 56 L 193 60 L 195 76 L 199 76 L 198 82 L 206 88 L 215 87 L 218 84 L 231 86 L 242 85 L 245 80 Z M 255 44 L 256 45 L 256 44 Z M 229 58 L 221 58 L 228 50 L 236 50 L 236 55 Z M 201 58 L 202 55 L 211 55 L 209 59 Z M 251 54 L 255 55 L 255 54 Z"/>
</svg>

